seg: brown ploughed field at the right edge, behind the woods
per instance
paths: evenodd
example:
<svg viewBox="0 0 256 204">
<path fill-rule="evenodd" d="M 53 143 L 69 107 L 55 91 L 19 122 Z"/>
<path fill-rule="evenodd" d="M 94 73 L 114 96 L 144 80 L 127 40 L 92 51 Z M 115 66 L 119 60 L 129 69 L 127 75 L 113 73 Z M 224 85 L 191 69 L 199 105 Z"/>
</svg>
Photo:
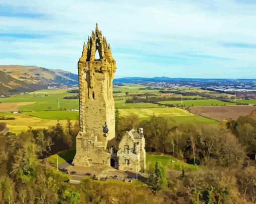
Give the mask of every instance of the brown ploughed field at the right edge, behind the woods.
<svg viewBox="0 0 256 204">
<path fill-rule="evenodd" d="M 190 107 L 191 113 L 222 121 L 225 119 L 236 120 L 239 116 L 249 115 L 256 106 L 215 106 L 215 107 Z"/>
</svg>

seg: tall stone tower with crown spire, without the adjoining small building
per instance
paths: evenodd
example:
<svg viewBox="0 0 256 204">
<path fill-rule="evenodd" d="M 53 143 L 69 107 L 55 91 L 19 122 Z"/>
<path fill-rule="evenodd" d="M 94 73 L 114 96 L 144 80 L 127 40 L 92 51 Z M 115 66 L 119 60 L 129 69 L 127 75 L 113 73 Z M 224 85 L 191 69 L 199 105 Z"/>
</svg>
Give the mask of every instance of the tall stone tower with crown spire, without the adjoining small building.
<svg viewBox="0 0 256 204">
<path fill-rule="evenodd" d="M 77 165 L 104 163 L 104 156 L 93 156 L 94 151 L 105 151 L 107 141 L 115 136 L 112 95 L 115 69 L 110 45 L 96 24 L 78 61 L 80 132 L 76 138 L 74 158 Z"/>
</svg>

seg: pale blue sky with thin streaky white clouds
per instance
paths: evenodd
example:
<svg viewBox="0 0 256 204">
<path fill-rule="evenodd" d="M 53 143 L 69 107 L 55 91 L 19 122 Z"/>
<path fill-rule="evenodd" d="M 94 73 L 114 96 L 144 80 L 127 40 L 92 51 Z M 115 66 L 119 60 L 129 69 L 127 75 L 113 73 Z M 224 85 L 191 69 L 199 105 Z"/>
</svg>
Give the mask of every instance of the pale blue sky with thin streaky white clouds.
<svg viewBox="0 0 256 204">
<path fill-rule="evenodd" d="M 0 65 L 77 73 L 96 23 L 115 78 L 256 78 L 254 0 L 0 0 Z"/>
</svg>

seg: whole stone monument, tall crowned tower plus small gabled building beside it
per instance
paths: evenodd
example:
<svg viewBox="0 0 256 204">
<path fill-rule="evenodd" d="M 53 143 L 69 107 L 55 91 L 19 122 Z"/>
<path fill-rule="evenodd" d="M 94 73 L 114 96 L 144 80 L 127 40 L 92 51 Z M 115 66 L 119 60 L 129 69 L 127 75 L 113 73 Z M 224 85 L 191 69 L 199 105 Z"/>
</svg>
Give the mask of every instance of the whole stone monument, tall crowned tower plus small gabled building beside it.
<svg viewBox="0 0 256 204">
<path fill-rule="evenodd" d="M 76 166 L 108 165 L 119 170 L 145 170 L 143 128 L 115 138 L 112 82 L 116 67 L 110 45 L 96 24 L 78 61 L 80 132 L 76 137 Z"/>
</svg>

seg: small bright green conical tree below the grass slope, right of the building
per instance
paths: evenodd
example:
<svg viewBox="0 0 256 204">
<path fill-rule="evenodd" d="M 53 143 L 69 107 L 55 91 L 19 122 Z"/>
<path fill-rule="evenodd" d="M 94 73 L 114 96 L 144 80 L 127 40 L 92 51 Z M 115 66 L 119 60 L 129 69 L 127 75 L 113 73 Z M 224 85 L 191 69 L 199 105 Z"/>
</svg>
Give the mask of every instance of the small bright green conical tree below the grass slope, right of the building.
<svg viewBox="0 0 256 204">
<path fill-rule="evenodd" d="M 155 187 L 157 190 L 164 190 L 167 187 L 166 171 L 161 161 L 157 161 L 155 165 Z"/>
</svg>

